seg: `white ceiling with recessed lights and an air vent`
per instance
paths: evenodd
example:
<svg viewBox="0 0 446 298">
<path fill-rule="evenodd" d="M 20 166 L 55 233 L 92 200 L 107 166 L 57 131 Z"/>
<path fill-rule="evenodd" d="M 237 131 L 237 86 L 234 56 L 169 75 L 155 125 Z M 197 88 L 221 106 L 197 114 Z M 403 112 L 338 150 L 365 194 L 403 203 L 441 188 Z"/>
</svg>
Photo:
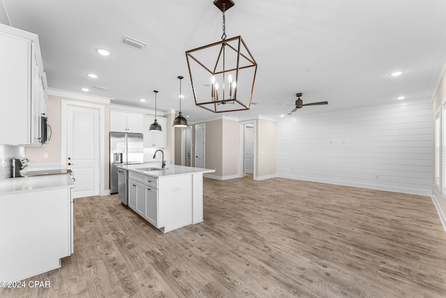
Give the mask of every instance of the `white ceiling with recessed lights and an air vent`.
<svg viewBox="0 0 446 298">
<path fill-rule="evenodd" d="M 13 27 L 38 34 L 49 88 L 89 87 L 89 95 L 150 109 L 156 89 L 157 107 L 167 111 L 178 109 L 183 75 L 183 114 L 189 121 L 215 116 L 194 105 L 185 59 L 186 50 L 220 41 L 222 13 L 213 0 L 3 2 Z M 293 104 L 297 92 L 304 103 L 329 105 L 304 107 L 296 116 L 392 103 L 400 95 L 431 98 L 436 91 L 446 60 L 444 0 L 235 2 L 226 12 L 226 34 L 241 35 L 259 67 L 256 105 L 233 117 L 277 119 L 293 109 L 278 103 Z M 9 24 L 3 8 L 0 22 Z M 124 35 L 148 45 L 125 45 Z M 100 47 L 112 54 L 101 57 Z M 394 70 L 404 73 L 390 77 Z"/>
</svg>

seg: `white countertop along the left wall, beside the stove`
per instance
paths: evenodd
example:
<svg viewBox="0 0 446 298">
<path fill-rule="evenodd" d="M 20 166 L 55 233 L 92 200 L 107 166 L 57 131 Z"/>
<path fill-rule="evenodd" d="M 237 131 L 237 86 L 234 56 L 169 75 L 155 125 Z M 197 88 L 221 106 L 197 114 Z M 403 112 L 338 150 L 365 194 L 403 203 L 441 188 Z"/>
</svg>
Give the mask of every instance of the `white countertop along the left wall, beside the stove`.
<svg viewBox="0 0 446 298">
<path fill-rule="evenodd" d="M 0 196 L 12 195 L 17 192 L 47 191 L 74 186 L 75 182 L 70 174 L 8 178 L 0 181 Z"/>
</svg>

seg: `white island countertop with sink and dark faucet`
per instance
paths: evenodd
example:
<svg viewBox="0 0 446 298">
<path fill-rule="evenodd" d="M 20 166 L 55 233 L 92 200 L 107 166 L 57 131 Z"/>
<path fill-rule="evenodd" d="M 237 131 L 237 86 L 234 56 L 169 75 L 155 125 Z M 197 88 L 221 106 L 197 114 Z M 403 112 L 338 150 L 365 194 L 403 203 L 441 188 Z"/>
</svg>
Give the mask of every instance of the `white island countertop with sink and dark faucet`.
<svg viewBox="0 0 446 298">
<path fill-rule="evenodd" d="M 203 169 L 201 167 L 185 167 L 183 165 L 166 165 L 166 169 L 160 171 L 138 170 L 143 167 L 161 167 L 161 165 L 154 165 L 153 163 L 141 163 L 139 165 L 118 165 L 118 167 L 123 170 L 129 170 L 132 172 L 137 172 L 139 174 L 144 174 L 146 176 L 151 176 L 155 178 L 215 172 L 215 170 Z"/>
</svg>

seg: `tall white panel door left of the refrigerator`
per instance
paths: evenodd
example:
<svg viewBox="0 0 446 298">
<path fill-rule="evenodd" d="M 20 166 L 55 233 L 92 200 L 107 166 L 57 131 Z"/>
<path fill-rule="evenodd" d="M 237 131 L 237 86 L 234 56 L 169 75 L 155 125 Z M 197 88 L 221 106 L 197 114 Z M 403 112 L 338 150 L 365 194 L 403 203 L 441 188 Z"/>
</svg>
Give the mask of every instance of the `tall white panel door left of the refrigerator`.
<svg viewBox="0 0 446 298">
<path fill-rule="evenodd" d="M 67 168 L 76 179 L 73 198 L 99 195 L 99 110 L 68 105 Z"/>
</svg>

